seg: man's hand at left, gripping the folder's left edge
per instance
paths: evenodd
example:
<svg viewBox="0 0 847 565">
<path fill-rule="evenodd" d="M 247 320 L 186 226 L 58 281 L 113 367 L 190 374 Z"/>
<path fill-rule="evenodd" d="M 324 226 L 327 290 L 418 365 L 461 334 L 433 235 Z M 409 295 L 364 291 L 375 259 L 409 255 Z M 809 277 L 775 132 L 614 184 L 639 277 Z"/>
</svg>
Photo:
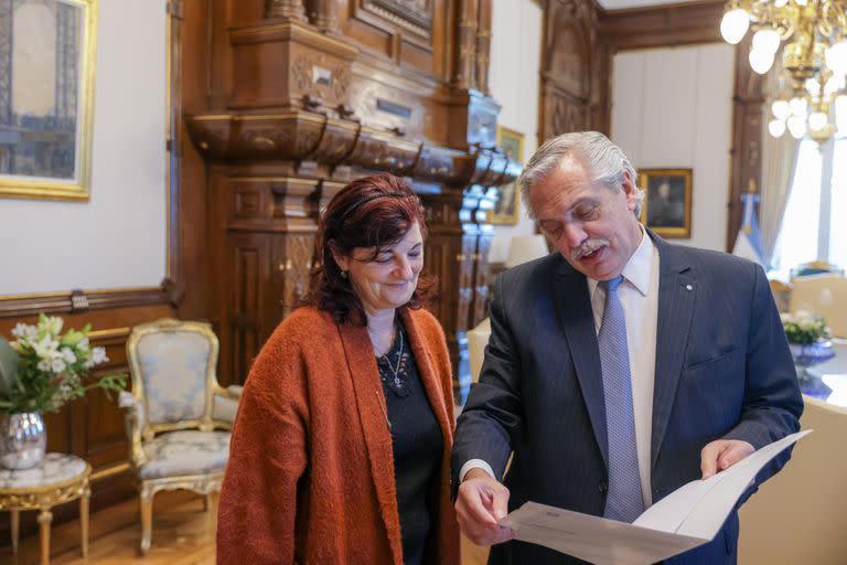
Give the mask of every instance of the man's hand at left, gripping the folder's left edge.
<svg viewBox="0 0 847 565">
<path fill-rule="evenodd" d="M 508 513 L 508 489 L 482 469 L 471 469 L 459 486 L 455 516 L 459 527 L 476 545 L 494 545 L 515 536 L 497 524 Z"/>
</svg>

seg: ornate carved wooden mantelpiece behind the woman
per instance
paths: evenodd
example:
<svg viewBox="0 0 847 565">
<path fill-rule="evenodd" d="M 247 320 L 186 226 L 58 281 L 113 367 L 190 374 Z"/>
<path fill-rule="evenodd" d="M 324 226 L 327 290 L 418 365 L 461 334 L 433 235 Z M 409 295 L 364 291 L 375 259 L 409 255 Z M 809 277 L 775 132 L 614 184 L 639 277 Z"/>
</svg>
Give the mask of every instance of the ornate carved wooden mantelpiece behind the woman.
<svg viewBox="0 0 847 565">
<path fill-rule="evenodd" d="M 485 317 L 490 211 L 521 172 L 496 147 L 500 105 L 486 93 L 491 1 L 215 4 L 228 10 L 204 14 L 207 67 L 186 65 L 194 82 L 183 82 L 193 94 L 182 181 L 197 203 L 205 186 L 206 236 L 204 252 L 182 255 L 202 265 L 185 269 L 186 303 L 201 302 L 191 292 L 203 289 L 222 380 L 244 381 L 304 296 L 322 206 L 352 179 L 388 171 L 410 180 L 427 209 L 425 267 L 440 285 L 432 309 L 463 397 L 467 330 Z M 189 21 L 184 41 L 203 45 L 200 21 Z"/>
</svg>

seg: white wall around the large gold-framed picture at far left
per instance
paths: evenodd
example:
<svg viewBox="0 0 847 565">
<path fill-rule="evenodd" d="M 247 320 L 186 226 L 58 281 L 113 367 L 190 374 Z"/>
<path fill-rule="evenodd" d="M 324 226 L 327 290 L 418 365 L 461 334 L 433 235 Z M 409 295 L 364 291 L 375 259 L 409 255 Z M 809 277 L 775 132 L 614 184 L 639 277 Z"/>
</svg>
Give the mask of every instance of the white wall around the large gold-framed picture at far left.
<svg viewBox="0 0 847 565">
<path fill-rule="evenodd" d="M 0 295 L 164 278 L 164 4 L 99 2 L 90 201 L 0 200 Z"/>
</svg>

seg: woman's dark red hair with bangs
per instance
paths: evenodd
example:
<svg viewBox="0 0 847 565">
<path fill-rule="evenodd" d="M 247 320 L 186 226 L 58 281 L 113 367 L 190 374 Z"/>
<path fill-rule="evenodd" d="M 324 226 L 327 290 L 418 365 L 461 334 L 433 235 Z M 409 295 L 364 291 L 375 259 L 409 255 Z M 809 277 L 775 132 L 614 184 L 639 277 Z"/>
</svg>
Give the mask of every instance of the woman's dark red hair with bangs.
<svg viewBox="0 0 847 565">
<path fill-rule="evenodd" d="M 373 247 L 368 260 L 398 243 L 415 222 L 426 241 L 426 212 L 411 186 L 393 174 L 356 179 L 330 201 L 321 214 L 315 236 L 320 263 L 311 274 L 304 302 L 332 313 L 339 323 L 365 326 L 365 309 L 332 256 L 351 256 L 356 247 Z M 436 280 L 421 273 L 406 307 L 421 308 L 435 294 Z"/>
</svg>

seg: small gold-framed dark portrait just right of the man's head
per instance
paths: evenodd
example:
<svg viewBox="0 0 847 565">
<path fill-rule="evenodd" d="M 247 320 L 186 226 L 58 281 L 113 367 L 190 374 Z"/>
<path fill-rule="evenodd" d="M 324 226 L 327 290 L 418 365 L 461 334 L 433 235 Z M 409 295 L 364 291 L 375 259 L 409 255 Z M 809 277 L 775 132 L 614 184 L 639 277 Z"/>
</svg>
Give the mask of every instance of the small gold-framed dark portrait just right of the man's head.
<svg viewBox="0 0 847 565">
<path fill-rule="evenodd" d="M 642 169 L 639 186 L 644 191 L 641 221 L 662 237 L 691 236 L 691 170 Z"/>
</svg>

